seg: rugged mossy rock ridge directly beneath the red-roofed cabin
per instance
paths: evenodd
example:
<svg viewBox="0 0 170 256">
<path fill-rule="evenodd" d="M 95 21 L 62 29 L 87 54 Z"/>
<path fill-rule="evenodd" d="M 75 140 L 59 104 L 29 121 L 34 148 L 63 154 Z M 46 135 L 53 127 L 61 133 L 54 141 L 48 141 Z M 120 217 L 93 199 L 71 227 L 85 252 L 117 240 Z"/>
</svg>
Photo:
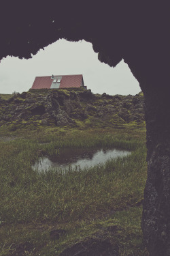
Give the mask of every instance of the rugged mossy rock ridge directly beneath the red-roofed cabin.
<svg viewBox="0 0 170 256">
<path fill-rule="evenodd" d="M 109 96 L 83 89 L 30 89 L 0 98 L 0 126 L 126 126 L 143 124 L 143 94 Z"/>
</svg>

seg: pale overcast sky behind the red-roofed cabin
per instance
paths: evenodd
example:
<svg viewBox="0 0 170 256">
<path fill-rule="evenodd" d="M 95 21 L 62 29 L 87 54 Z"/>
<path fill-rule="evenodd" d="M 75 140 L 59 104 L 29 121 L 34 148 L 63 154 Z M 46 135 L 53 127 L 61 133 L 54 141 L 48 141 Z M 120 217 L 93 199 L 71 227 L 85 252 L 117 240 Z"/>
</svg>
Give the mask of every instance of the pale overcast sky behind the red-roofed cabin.
<svg viewBox="0 0 170 256">
<path fill-rule="evenodd" d="M 0 63 L 0 94 L 28 91 L 35 76 L 83 74 L 84 84 L 95 94 L 138 94 L 139 83 L 121 61 L 110 68 L 97 59 L 92 44 L 58 40 L 32 59 L 7 57 Z"/>
</svg>

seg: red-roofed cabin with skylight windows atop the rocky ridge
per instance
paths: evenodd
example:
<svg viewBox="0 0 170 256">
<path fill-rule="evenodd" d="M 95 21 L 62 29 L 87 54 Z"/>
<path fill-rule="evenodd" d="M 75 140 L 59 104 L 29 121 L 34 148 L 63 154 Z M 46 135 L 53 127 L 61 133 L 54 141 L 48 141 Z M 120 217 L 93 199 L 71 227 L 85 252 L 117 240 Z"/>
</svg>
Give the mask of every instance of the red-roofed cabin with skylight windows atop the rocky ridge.
<svg viewBox="0 0 170 256">
<path fill-rule="evenodd" d="M 58 76 L 36 76 L 31 89 L 61 89 L 61 88 L 80 88 L 84 86 L 83 75 L 73 74 Z"/>
</svg>

